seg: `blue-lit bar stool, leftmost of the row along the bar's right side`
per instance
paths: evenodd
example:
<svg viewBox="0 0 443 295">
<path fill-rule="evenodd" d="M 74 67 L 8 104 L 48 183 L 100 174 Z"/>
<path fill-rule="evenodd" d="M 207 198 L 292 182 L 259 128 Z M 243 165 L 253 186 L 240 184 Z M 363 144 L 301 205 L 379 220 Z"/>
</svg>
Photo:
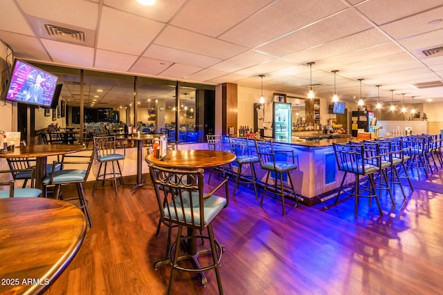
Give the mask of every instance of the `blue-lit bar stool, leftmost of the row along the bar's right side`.
<svg viewBox="0 0 443 295">
<path fill-rule="evenodd" d="M 381 210 L 379 197 L 375 192 L 374 184 L 374 173 L 380 171 L 380 156 L 373 150 L 365 151 L 363 144 L 333 143 L 332 146 L 334 148 L 338 170 L 344 172 L 334 204 L 337 204 L 341 192 L 354 196 L 354 216 L 357 217 L 360 198 L 375 198 L 379 213 L 383 216 L 383 211 Z M 355 175 L 352 193 L 347 191 L 347 187 L 343 186 L 347 173 Z M 361 188 L 361 178 L 363 176 L 368 177 L 369 189 Z M 361 194 L 361 191 L 367 194 L 363 195 Z"/>
</svg>

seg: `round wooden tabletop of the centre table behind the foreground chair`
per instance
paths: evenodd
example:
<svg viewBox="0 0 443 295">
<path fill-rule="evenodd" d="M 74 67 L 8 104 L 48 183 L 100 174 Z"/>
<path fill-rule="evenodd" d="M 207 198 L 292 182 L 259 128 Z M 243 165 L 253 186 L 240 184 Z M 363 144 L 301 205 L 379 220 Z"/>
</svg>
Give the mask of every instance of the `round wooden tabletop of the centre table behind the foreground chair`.
<svg viewBox="0 0 443 295">
<path fill-rule="evenodd" d="M 210 168 L 229 164 L 235 160 L 233 153 L 226 151 L 211 151 L 206 149 L 190 149 L 168 151 L 163 159 L 155 158 L 153 154 L 146 156 L 146 161 L 167 168 Z"/>
</svg>

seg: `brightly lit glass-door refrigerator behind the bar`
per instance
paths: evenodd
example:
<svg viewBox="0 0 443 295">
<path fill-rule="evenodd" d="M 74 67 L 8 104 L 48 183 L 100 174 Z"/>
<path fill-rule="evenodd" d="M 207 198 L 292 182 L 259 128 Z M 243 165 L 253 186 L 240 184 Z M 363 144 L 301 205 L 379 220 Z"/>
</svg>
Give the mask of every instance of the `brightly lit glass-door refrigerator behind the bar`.
<svg viewBox="0 0 443 295">
<path fill-rule="evenodd" d="M 291 104 L 284 102 L 274 102 L 273 106 L 273 138 L 277 142 L 291 142 Z"/>
</svg>

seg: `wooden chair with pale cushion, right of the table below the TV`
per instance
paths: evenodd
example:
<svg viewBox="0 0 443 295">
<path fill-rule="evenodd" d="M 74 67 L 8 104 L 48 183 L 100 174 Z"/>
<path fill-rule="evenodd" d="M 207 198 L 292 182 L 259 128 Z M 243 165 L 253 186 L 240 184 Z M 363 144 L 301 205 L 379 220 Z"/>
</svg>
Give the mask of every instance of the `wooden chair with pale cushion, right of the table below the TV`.
<svg viewBox="0 0 443 295">
<path fill-rule="evenodd" d="M 96 156 L 96 147 L 89 151 L 89 154 L 84 154 L 83 151 L 76 153 L 66 153 L 62 155 L 60 162 L 53 162 L 53 171 L 43 180 L 44 186 L 55 186 L 55 198 L 59 198 L 60 189 L 62 185 L 75 184 L 77 187 L 77 198 L 64 198 L 65 201 L 78 200 L 80 209 L 87 216 L 89 227 L 93 227 L 91 215 L 89 213 L 88 200 L 84 196 L 83 183 L 87 181 L 93 160 Z M 54 167 L 61 165 L 62 169 L 55 171 Z M 69 168 L 69 169 L 68 169 Z"/>
</svg>

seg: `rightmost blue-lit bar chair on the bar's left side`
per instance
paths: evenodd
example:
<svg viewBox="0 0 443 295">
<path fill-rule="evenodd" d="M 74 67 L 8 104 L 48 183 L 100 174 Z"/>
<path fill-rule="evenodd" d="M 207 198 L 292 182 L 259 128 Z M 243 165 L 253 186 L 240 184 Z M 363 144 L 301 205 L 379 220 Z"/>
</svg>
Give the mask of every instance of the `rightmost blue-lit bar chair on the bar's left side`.
<svg viewBox="0 0 443 295">
<path fill-rule="evenodd" d="M 284 198 L 293 197 L 296 201 L 296 207 L 299 207 L 298 196 L 291 178 L 291 171 L 298 169 L 293 151 L 279 151 L 273 148 L 271 140 L 255 140 L 255 150 L 260 160 L 261 169 L 266 171 L 266 181 L 260 200 L 260 207 L 263 205 L 264 194 L 266 191 L 282 198 L 283 216 L 286 216 L 284 209 Z M 287 160 L 289 158 L 289 160 Z M 274 184 L 269 184 L 271 173 L 274 178 Z M 287 184 L 284 184 L 283 175 L 285 175 Z"/>
</svg>

